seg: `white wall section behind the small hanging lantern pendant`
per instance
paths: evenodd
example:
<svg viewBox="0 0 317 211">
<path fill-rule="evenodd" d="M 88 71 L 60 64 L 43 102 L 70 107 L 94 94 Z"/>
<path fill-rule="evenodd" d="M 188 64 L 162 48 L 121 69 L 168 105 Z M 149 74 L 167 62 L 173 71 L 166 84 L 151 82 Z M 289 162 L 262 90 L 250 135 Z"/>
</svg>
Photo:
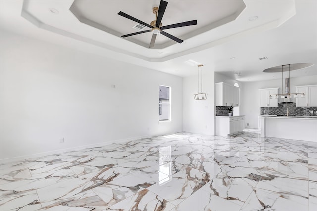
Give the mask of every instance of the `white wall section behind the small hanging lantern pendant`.
<svg viewBox="0 0 317 211">
<path fill-rule="evenodd" d="M 183 129 L 185 132 L 215 135 L 214 71 L 204 67 L 203 92 L 207 100 L 194 100 L 198 93 L 197 75 L 183 79 Z"/>
</svg>

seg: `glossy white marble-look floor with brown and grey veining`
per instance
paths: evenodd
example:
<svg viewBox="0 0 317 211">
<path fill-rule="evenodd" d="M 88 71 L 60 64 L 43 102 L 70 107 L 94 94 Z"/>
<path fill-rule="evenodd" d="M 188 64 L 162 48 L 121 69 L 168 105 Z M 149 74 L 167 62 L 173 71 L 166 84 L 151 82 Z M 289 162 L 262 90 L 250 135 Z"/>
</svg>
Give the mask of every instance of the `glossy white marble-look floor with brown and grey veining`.
<svg viewBox="0 0 317 211">
<path fill-rule="evenodd" d="M 2 164 L 1 211 L 317 211 L 317 143 L 180 133 Z"/>
</svg>

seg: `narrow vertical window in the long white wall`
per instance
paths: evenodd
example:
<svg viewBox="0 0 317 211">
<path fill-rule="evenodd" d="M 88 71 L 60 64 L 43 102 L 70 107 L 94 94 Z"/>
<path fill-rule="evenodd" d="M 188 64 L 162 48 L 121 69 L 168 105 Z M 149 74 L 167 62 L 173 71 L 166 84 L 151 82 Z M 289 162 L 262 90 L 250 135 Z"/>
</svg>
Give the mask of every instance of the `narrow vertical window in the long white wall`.
<svg viewBox="0 0 317 211">
<path fill-rule="evenodd" d="M 171 87 L 159 86 L 159 121 L 171 120 Z"/>
</svg>

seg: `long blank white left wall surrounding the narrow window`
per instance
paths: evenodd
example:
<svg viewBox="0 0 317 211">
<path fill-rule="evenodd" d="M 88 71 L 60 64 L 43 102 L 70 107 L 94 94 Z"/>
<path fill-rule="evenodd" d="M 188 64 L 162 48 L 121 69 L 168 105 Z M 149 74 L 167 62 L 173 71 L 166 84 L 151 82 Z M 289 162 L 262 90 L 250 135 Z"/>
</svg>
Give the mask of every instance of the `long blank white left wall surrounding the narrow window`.
<svg viewBox="0 0 317 211">
<path fill-rule="evenodd" d="M 4 31 L 0 68 L 2 160 L 183 131 L 181 77 Z"/>
</svg>

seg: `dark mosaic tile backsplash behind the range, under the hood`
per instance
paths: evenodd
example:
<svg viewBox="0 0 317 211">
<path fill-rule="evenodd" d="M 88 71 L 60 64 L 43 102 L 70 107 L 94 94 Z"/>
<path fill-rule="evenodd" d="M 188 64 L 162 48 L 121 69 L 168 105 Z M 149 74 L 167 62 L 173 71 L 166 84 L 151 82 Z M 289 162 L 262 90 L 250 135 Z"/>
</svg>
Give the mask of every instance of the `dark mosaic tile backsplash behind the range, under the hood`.
<svg viewBox="0 0 317 211">
<path fill-rule="evenodd" d="M 317 107 L 296 107 L 296 103 L 278 103 L 278 107 L 261 107 L 260 110 L 261 115 L 286 115 L 287 108 L 292 116 L 317 116 Z M 313 111 L 313 114 L 310 111 Z"/>
</svg>

